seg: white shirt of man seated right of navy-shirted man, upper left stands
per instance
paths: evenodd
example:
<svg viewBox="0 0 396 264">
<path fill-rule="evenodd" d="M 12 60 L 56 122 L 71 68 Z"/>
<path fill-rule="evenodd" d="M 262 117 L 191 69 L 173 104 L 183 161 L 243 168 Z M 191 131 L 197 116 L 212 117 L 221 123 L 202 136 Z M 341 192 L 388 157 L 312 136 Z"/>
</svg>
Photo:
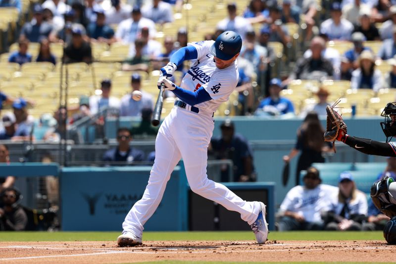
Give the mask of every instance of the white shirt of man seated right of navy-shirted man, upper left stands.
<svg viewBox="0 0 396 264">
<path fill-rule="evenodd" d="M 157 33 L 155 24 L 152 20 L 145 17 L 142 17 L 138 22 L 134 22 L 132 18 L 123 20 L 117 27 L 115 37 L 121 39 L 125 44 L 134 43 L 138 33 L 140 33 L 144 27 L 148 27 L 150 38 L 154 38 Z"/>
</svg>

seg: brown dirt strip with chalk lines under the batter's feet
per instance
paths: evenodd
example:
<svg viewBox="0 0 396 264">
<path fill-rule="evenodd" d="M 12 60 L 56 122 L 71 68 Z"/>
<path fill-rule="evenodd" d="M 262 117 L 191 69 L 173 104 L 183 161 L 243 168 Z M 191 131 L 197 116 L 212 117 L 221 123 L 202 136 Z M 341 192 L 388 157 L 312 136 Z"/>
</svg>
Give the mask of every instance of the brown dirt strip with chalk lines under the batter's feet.
<svg viewBox="0 0 396 264">
<path fill-rule="evenodd" d="M 118 248 L 115 242 L 1 242 L 1 263 L 99 264 L 159 260 L 244 262 L 384 262 L 396 246 L 384 241 L 177 241 Z"/>
</svg>

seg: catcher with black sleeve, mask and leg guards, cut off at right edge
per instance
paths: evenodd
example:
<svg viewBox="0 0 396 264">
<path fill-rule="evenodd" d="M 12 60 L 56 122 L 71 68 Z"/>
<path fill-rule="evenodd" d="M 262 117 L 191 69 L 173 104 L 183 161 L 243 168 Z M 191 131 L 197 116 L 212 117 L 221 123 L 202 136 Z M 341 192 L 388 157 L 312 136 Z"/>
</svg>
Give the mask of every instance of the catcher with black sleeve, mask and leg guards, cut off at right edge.
<svg viewBox="0 0 396 264">
<path fill-rule="evenodd" d="M 381 122 L 381 127 L 387 137 L 386 143 L 349 136 L 346 123 L 334 109 L 338 103 L 326 107 L 327 129 L 324 139 L 333 142 L 334 151 L 334 142 L 338 140 L 365 154 L 396 157 L 396 143 L 390 142 L 392 137 L 396 136 L 396 102 L 388 103 L 381 113 L 381 116 L 385 117 L 384 122 Z M 375 182 L 371 187 L 370 196 L 374 205 L 391 218 L 385 225 L 384 238 L 389 244 L 396 244 L 396 182 L 394 178 L 386 176 Z"/>
</svg>

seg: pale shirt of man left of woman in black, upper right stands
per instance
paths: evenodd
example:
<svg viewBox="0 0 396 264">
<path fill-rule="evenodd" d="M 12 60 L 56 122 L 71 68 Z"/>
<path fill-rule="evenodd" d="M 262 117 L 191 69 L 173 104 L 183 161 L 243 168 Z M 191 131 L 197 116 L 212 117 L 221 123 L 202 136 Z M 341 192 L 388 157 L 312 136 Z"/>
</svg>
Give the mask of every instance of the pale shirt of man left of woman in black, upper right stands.
<svg viewBox="0 0 396 264">
<path fill-rule="evenodd" d="M 329 18 L 320 25 L 320 32 L 326 34 L 330 40 L 350 40 L 353 25 L 347 19 L 341 18 L 340 24 L 336 25 Z"/>
</svg>

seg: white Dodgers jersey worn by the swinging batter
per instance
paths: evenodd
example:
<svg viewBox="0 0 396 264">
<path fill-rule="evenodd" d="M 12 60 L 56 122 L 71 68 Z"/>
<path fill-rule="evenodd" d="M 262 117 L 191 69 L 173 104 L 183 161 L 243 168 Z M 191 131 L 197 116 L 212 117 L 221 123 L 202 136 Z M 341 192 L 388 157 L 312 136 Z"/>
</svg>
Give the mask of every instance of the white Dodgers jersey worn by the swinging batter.
<svg viewBox="0 0 396 264">
<path fill-rule="evenodd" d="M 203 87 L 213 100 L 196 105 L 198 108 L 215 112 L 220 104 L 227 102 L 238 84 L 237 60 L 225 69 L 218 69 L 209 48 L 214 41 L 189 43 L 197 49 L 198 57 L 184 76 L 181 87 L 188 91 L 197 91 Z"/>
</svg>

